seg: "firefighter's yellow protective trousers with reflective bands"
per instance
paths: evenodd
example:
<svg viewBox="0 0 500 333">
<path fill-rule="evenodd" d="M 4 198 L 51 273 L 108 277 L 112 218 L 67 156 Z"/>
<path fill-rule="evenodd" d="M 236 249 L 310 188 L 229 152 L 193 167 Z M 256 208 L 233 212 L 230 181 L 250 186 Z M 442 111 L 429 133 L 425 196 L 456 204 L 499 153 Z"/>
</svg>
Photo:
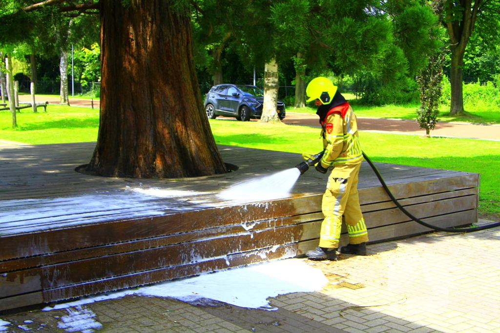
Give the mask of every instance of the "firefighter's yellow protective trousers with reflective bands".
<svg viewBox="0 0 500 333">
<path fill-rule="evenodd" d="M 322 248 L 338 248 L 342 215 L 347 225 L 349 243 L 368 241 L 357 192 L 360 167 L 361 163 L 338 166 L 328 177 L 321 204 L 324 220 L 321 223 L 319 246 Z"/>
</svg>

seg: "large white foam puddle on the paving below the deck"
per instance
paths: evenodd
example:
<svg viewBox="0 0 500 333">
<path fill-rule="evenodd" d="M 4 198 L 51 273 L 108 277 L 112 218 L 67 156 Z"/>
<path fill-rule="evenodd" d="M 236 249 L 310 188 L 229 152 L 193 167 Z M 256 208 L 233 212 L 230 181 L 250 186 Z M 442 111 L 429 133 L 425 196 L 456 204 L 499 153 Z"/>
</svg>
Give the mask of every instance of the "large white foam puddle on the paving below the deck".
<svg viewBox="0 0 500 333">
<path fill-rule="evenodd" d="M 272 250 L 272 249 L 271 249 Z M 196 277 L 157 283 L 137 290 L 107 293 L 58 304 L 43 311 L 77 307 L 126 295 L 172 297 L 184 302 L 210 299 L 238 307 L 275 310 L 267 298 L 277 295 L 314 292 L 327 283 L 323 273 L 303 259 L 285 259 L 245 268 L 229 269 Z"/>
</svg>

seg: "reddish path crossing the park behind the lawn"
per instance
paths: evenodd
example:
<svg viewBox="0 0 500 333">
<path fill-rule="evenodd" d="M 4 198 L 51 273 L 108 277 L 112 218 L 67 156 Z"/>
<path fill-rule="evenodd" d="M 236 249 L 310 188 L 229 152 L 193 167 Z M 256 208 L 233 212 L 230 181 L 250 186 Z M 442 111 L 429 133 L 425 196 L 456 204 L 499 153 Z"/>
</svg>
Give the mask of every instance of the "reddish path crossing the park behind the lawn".
<svg viewBox="0 0 500 333">
<path fill-rule="evenodd" d="M 47 101 L 49 104 L 59 103 L 59 98 L 57 96 L 36 96 L 35 99 L 36 102 Z M 30 102 L 30 96 L 19 95 L 19 100 Z M 99 107 L 98 99 L 93 99 L 92 101 L 90 99 L 69 98 L 69 104 L 72 106 L 91 107 L 92 103 L 93 107 Z M 283 119 L 283 123 L 289 125 L 320 127 L 317 115 L 295 113 L 292 111 L 286 112 L 286 117 Z M 360 131 L 425 135 L 425 130 L 419 128 L 418 122 L 414 120 L 366 118 L 358 116 L 357 126 Z M 430 132 L 430 135 L 500 141 L 500 125 L 438 122 L 436 127 Z"/>
</svg>

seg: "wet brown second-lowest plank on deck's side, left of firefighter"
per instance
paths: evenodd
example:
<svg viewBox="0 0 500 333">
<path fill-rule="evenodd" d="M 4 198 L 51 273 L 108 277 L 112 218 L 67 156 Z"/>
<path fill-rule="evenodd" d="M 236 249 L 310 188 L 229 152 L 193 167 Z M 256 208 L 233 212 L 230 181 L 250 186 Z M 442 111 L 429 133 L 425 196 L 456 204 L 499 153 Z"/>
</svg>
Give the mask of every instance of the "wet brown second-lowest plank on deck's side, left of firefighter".
<svg viewBox="0 0 500 333">
<path fill-rule="evenodd" d="M 0 276 L 0 288 L 4 296 L 12 296 L 111 276 L 183 265 L 209 258 L 225 257 L 230 254 L 297 242 L 303 238 L 304 228 L 307 226 L 308 224 L 294 224 L 7 272 Z"/>
</svg>

